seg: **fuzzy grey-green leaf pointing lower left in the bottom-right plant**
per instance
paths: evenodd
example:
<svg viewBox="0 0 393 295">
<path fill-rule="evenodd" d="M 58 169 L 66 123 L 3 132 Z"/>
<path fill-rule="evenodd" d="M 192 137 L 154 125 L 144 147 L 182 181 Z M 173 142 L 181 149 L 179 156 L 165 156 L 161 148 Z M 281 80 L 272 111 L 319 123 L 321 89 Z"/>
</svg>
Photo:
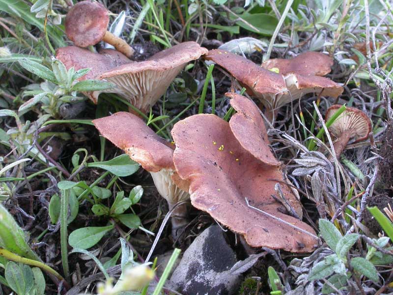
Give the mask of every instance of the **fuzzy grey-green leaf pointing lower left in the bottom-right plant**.
<svg viewBox="0 0 393 295">
<path fill-rule="evenodd" d="M 325 257 L 324 260 L 313 266 L 308 279 L 309 281 L 320 280 L 334 272 L 345 274 L 345 265 L 336 254 Z"/>
</svg>

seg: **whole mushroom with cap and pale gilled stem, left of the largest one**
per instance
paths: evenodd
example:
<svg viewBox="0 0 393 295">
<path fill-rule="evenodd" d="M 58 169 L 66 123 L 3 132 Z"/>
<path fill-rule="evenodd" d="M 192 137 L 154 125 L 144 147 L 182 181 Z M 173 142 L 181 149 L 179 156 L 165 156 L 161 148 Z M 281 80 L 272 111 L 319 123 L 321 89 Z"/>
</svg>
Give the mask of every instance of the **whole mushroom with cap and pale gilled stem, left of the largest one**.
<svg viewBox="0 0 393 295">
<path fill-rule="evenodd" d="M 139 117 L 119 112 L 93 120 L 101 135 L 123 149 L 132 160 L 150 172 L 159 194 L 167 200 L 169 210 L 190 198 L 188 183 L 177 176 L 173 165 L 173 145 L 159 137 Z M 172 236 L 188 224 L 187 204 L 179 205 L 171 217 Z"/>
</svg>

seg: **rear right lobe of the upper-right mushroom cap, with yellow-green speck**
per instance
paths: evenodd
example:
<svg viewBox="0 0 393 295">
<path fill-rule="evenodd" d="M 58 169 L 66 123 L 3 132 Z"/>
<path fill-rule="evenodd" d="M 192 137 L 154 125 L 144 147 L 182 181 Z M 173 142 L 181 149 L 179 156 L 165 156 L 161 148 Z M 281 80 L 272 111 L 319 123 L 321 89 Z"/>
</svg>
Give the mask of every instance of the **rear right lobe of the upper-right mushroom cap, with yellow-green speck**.
<svg viewBox="0 0 393 295">
<path fill-rule="evenodd" d="M 320 52 L 305 52 L 293 59 L 268 59 L 262 63 L 267 70 L 278 69 L 278 73 L 286 75 L 296 73 L 300 75 L 325 76 L 332 70 L 333 59 Z"/>
</svg>

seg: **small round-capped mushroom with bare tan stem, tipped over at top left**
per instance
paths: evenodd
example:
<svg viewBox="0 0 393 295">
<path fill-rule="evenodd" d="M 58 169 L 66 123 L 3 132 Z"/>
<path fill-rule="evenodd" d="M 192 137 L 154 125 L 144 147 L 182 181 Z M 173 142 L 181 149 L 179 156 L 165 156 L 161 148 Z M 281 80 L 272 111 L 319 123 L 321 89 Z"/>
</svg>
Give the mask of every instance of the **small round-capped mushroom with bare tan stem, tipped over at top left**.
<svg viewBox="0 0 393 295">
<path fill-rule="evenodd" d="M 134 50 L 123 39 L 108 31 L 108 10 L 101 3 L 91 0 L 78 2 L 65 18 L 65 33 L 79 47 L 95 45 L 101 40 L 130 58 Z"/>
</svg>

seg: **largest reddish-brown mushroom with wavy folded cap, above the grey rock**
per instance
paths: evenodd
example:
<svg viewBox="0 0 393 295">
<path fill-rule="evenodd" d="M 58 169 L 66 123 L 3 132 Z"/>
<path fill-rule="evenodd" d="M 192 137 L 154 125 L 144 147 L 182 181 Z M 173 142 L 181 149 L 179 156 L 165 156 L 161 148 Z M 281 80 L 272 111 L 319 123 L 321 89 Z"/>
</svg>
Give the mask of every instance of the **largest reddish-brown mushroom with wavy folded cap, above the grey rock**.
<svg viewBox="0 0 393 295">
<path fill-rule="evenodd" d="M 229 123 L 200 114 L 177 122 L 171 132 L 176 143 L 173 163 L 179 177 L 190 184 L 192 205 L 243 235 L 250 246 L 312 251 L 317 243 L 315 232 L 284 213 L 283 205 L 272 197 L 280 183 L 282 197 L 302 215 L 299 199 L 286 184 L 278 162 L 272 161 L 257 107 L 245 97 L 228 95 L 238 111 Z M 251 122 L 255 127 L 247 133 L 245 126 Z M 257 139 L 255 147 L 250 138 Z"/>
</svg>

